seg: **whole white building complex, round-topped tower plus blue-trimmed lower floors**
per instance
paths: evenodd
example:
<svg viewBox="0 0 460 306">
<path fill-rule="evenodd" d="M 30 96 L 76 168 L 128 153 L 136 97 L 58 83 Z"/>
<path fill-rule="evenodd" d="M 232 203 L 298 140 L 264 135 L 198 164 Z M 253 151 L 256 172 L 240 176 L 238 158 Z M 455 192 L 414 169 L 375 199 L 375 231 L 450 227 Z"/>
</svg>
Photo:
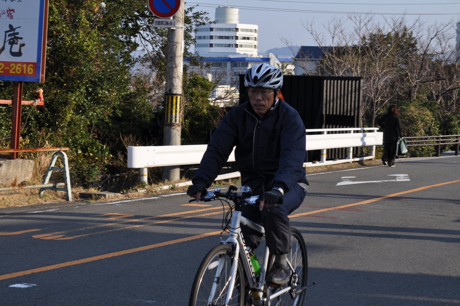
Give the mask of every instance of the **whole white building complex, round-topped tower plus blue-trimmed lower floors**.
<svg viewBox="0 0 460 306">
<path fill-rule="evenodd" d="M 210 102 L 220 106 L 239 99 L 239 76 L 256 64 L 267 63 L 284 71 L 294 71 L 293 57 L 258 53 L 258 25 L 240 24 L 239 10 L 230 6 L 216 7 L 216 23 L 197 27 L 195 51 L 198 61 L 184 58 L 190 71 L 217 82 Z M 269 35 L 266 33 L 266 35 Z"/>
</svg>

